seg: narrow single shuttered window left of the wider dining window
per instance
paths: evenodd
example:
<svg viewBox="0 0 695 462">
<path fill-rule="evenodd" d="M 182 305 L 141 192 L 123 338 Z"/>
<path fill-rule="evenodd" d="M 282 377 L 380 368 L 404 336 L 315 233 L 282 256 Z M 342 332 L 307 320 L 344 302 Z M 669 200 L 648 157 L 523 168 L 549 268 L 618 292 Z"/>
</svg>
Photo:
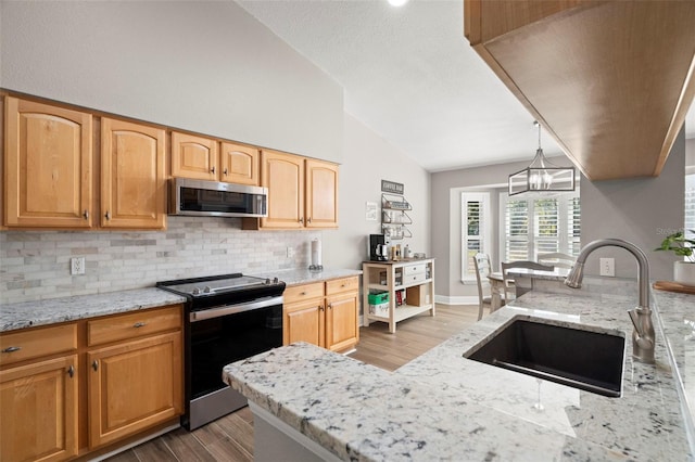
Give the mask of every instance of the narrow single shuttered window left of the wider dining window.
<svg viewBox="0 0 695 462">
<path fill-rule="evenodd" d="M 462 204 L 462 281 L 475 281 L 476 268 L 472 257 L 479 252 L 489 253 L 492 232 L 490 230 L 490 193 L 464 192 Z"/>
</svg>

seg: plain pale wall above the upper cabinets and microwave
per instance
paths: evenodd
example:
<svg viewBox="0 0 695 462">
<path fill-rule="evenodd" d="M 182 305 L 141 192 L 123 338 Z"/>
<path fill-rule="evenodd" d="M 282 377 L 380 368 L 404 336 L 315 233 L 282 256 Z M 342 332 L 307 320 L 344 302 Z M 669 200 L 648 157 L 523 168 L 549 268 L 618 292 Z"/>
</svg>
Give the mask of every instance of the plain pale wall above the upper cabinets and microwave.
<svg viewBox="0 0 695 462">
<path fill-rule="evenodd" d="M 0 86 L 341 162 L 343 90 L 231 1 L 2 1 Z"/>
</svg>

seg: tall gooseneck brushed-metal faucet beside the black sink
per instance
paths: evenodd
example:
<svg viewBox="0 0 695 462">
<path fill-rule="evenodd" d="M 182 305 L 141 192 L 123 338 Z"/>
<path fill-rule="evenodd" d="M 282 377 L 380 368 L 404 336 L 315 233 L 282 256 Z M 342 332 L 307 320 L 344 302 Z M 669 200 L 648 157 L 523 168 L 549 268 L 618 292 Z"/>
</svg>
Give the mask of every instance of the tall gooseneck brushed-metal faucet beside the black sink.
<svg viewBox="0 0 695 462">
<path fill-rule="evenodd" d="M 579 253 L 574 266 L 570 270 L 565 284 L 572 288 L 582 286 L 584 277 L 584 261 L 589 254 L 596 248 L 615 246 L 630 252 L 637 259 L 640 274 L 637 285 L 640 286 L 640 306 L 628 311 L 634 331 L 632 332 L 632 356 L 641 362 L 654 363 L 654 324 L 652 323 L 652 309 L 649 308 L 649 264 L 646 255 L 636 245 L 621 239 L 601 239 L 586 244 Z"/>
</svg>

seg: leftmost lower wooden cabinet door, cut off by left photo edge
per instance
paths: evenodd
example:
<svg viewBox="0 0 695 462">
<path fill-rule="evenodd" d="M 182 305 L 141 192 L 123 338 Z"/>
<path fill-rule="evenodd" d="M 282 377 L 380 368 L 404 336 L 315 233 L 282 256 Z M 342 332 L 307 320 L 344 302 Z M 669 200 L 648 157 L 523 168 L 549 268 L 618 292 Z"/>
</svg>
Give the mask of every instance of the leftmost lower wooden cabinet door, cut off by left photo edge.
<svg viewBox="0 0 695 462">
<path fill-rule="evenodd" d="M 0 460 L 77 454 L 77 356 L 0 372 Z"/>
</svg>

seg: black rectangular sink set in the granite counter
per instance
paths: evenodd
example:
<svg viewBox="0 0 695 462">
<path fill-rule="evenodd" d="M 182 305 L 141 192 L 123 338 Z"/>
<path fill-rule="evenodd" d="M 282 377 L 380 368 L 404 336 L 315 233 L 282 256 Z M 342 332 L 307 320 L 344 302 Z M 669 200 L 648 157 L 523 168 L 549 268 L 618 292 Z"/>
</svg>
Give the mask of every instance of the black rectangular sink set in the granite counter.
<svg viewBox="0 0 695 462">
<path fill-rule="evenodd" d="M 515 319 L 465 358 L 607 397 L 620 397 L 626 338 L 620 331 L 584 330 Z"/>
</svg>

